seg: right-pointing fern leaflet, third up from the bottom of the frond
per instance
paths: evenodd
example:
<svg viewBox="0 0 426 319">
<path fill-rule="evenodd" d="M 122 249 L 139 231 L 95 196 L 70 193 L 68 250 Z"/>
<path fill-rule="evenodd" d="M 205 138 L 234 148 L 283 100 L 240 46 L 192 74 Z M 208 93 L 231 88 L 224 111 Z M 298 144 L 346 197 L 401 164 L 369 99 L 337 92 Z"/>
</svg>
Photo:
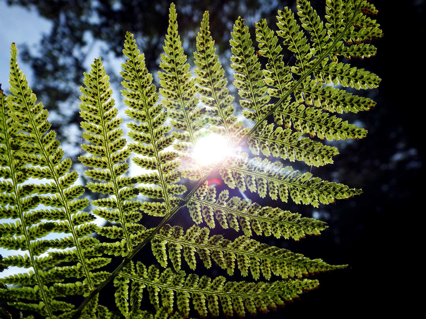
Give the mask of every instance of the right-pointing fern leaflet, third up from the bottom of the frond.
<svg viewBox="0 0 426 319">
<path fill-rule="evenodd" d="M 250 199 L 239 197 L 229 198 L 229 191 L 222 191 L 216 199 L 216 188 L 200 187 L 187 202 L 190 215 L 194 222 L 206 222 L 207 226 L 214 228 L 215 219 L 222 228 L 228 227 L 239 231 L 239 227 L 246 236 L 252 236 L 252 229 L 257 235 L 275 236 L 285 239 L 299 240 L 307 235 L 319 235 L 327 226 L 325 222 L 313 218 L 301 217 L 290 211 L 279 208 L 261 207 L 252 203 Z"/>
</svg>

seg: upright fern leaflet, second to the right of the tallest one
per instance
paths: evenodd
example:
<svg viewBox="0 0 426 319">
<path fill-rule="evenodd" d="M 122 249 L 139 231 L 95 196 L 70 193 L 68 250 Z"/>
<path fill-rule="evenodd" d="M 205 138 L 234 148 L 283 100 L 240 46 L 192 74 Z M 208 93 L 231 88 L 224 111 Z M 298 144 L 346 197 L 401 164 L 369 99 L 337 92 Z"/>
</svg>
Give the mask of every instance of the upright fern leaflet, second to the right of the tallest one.
<svg viewBox="0 0 426 319">
<path fill-rule="evenodd" d="M 248 27 L 241 17 L 235 21 L 231 36 L 231 68 L 235 71 L 233 85 L 238 88 L 242 108 L 252 110 L 243 110 L 242 115 L 256 122 L 265 117 L 272 105 L 267 104 L 270 97 L 265 95 L 267 88 L 263 82 L 263 71 L 252 46 Z"/>
</svg>

